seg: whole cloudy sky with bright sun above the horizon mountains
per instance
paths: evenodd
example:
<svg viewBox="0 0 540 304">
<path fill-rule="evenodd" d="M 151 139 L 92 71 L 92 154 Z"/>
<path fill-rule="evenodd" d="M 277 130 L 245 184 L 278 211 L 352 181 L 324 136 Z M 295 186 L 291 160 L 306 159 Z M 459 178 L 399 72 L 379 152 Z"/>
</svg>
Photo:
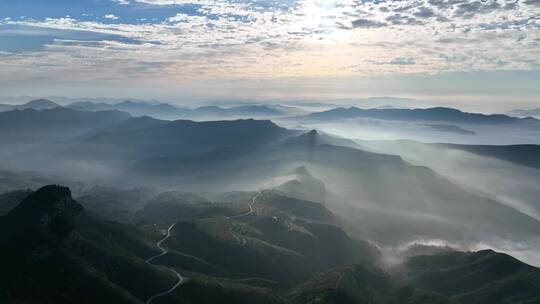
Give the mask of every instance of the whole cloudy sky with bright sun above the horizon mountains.
<svg viewBox="0 0 540 304">
<path fill-rule="evenodd" d="M 540 107 L 540 0 L 0 1 L 0 95 Z"/>
</svg>

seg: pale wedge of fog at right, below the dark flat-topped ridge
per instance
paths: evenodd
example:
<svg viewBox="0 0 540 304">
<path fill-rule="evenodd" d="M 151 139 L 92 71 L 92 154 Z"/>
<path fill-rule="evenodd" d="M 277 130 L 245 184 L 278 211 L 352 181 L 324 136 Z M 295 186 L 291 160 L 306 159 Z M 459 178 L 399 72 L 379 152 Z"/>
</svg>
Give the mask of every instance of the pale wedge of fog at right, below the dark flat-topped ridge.
<svg viewBox="0 0 540 304">
<path fill-rule="evenodd" d="M 481 195 L 540 220 L 540 170 L 438 145 L 403 141 L 362 141 L 373 151 L 402 156 Z"/>
</svg>

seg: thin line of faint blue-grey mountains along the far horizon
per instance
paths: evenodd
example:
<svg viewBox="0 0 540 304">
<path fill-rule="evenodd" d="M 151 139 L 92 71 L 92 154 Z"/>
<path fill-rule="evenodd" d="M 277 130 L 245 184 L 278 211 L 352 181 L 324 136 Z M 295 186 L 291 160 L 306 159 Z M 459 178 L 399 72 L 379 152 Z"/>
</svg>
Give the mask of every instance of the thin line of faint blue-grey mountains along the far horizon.
<svg viewBox="0 0 540 304">
<path fill-rule="evenodd" d="M 12 110 L 45 110 L 61 107 L 61 105 L 47 100 L 36 99 L 21 105 L 0 105 L 0 112 Z M 99 112 L 118 110 L 129 113 L 135 117 L 150 116 L 157 119 L 177 120 L 216 120 L 238 118 L 279 118 L 294 116 L 300 121 L 336 121 L 341 119 L 371 118 L 396 121 L 417 122 L 443 122 L 472 125 L 504 125 L 524 124 L 538 126 L 540 123 L 533 118 L 538 113 L 535 110 L 515 110 L 504 114 L 479 114 L 467 113 L 453 108 L 358 108 L 358 107 L 335 107 L 321 112 L 312 112 L 305 115 L 305 111 L 299 108 L 283 105 L 259 105 L 246 104 L 233 107 L 201 106 L 198 108 L 186 108 L 168 103 L 147 103 L 142 101 L 125 100 L 119 103 L 77 101 L 67 104 L 65 107 L 83 112 Z M 438 125 L 433 125 L 438 128 Z M 452 125 L 441 125 L 446 129 L 454 128 Z"/>
</svg>

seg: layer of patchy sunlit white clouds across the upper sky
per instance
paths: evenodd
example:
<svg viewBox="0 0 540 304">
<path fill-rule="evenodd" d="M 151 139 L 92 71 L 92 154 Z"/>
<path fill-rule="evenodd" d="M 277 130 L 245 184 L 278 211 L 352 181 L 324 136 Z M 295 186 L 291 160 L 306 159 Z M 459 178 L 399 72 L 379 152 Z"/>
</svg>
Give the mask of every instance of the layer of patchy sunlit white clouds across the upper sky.
<svg viewBox="0 0 540 304">
<path fill-rule="evenodd" d="M 0 4 L 0 82 L 540 67 L 536 0 L 53 0 L 46 10 L 38 2 Z"/>
</svg>

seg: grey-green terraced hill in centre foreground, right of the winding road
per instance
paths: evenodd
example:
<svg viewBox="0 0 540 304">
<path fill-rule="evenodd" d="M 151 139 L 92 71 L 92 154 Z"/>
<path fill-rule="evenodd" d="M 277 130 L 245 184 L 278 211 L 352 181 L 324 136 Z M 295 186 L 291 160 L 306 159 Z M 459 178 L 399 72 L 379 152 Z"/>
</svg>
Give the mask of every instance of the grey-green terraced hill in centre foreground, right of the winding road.
<svg viewBox="0 0 540 304">
<path fill-rule="evenodd" d="M 380 252 L 332 224 L 319 203 L 275 191 L 233 202 L 196 203 L 185 195 L 156 198 L 141 211 L 142 229 L 176 221 L 162 263 L 206 275 L 263 278 L 285 286 L 327 267 L 375 263 Z M 195 199 L 195 201 L 193 201 Z M 208 250 L 212 248 L 212 250 Z"/>
</svg>

